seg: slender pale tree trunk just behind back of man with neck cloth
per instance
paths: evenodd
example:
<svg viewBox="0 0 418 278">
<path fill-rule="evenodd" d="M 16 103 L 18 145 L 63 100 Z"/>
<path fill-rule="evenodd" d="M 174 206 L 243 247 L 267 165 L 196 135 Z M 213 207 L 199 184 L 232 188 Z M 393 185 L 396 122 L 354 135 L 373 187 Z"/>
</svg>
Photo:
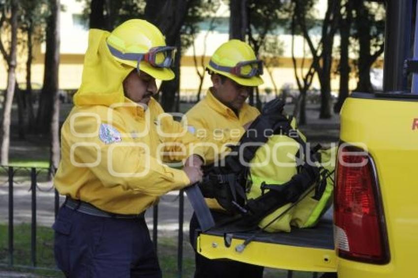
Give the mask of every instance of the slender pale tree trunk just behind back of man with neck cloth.
<svg viewBox="0 0 418 278">
<path fill-rule="evenodd" d="M 58 71 L 60 66 L 60 0 L 52 0 L 52 14 L 54 14 L 53 38 L 55 45 L 54 64 L 52 65 L 53 82 L 52 93 L 52 119 L 51 119 L 51 149 L 50 169 L 55 173 L 60 163 L 60 100 L 58 97 Z"/>
</svg>

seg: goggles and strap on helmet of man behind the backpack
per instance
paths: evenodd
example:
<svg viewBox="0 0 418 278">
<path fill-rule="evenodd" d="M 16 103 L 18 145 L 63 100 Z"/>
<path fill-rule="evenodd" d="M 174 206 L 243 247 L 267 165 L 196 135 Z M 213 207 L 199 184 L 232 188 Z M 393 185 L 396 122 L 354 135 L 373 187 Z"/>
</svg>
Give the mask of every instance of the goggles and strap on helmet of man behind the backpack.
<svg viewBox="0 0 418 278">
<path fill-rule="evenodd" d="M 263 74 L 263 61 L 251 60 L 237 63 L 234 67 L 221 66 L 209 61 L 209 66 L 218 71 L 227 72 L 238 77 L 250 78 L 253 76 L 259 76 Z"/>
</svg>

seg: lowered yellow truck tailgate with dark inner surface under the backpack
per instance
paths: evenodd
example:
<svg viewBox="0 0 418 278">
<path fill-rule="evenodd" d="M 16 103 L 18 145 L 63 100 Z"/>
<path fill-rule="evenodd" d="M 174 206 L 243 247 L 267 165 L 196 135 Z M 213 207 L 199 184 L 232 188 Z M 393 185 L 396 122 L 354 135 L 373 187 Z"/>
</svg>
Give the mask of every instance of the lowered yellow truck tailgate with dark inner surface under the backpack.
<svg viewBox="0 0 418 278">
<path fill-rule="evenodd" d="M 236 247 L 253 236 L 255 231 L 239 232 L 242 228 L 229 224 L 200 233 L 197 250 L 210 259 L 233 259 L 241 262 L 313 272 L 336 271 L 332 209 L 314 228 L 293 228 L 290 233 L 257 234 L 242 252 Z"/>
</svg>

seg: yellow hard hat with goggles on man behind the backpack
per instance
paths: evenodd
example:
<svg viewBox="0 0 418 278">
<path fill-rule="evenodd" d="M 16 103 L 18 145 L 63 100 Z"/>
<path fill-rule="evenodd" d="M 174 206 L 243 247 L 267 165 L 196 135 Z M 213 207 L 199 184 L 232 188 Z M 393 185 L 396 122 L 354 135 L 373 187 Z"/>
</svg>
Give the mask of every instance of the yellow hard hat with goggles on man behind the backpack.
<svg viewBox="0 0 418 278">
<path fill-rule="evenodd" d="M 206 68 L 244 86 L 264 83 L 260 77 L 263 62 L 257 59 L 248 44 L 240 40 L 230 40 L 218 47 Z"/>
</svg>

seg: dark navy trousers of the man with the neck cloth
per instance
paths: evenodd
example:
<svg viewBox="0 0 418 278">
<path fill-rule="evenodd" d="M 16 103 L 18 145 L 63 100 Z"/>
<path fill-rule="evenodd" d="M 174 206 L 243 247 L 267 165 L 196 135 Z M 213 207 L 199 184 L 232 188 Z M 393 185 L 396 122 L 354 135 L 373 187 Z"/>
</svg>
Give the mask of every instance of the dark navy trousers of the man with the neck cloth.
<svg viewBox="0 0 418 278">
<path fill-rule="evenodd" d="M 144 218 L 91 216 L 62 206 L 53 229 L 55 259 L 66 277 L 162 277 Z"/>
</svg>

